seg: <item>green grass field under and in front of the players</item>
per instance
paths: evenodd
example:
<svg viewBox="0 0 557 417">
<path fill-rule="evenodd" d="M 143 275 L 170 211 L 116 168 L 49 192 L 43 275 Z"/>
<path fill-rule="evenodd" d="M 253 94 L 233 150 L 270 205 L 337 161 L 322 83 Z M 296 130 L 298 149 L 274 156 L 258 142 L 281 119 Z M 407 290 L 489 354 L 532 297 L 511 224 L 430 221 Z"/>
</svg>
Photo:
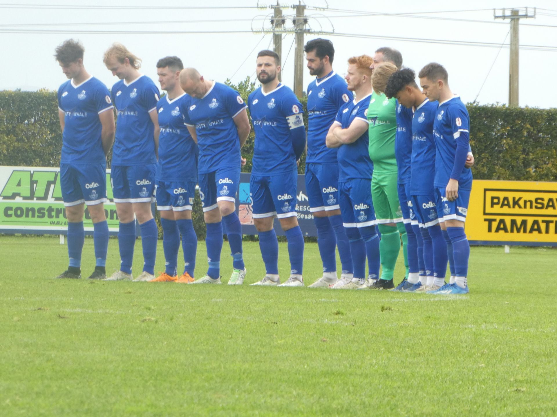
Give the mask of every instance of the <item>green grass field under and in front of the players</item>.
<svg viewBox="0 0 557 417">
<path fill-rule="evenodd" d="M 3 417 L 557 414 L 555 250 L 473 247 L 470 294 L 432 296 L 62 281 L 57 237 L 0 247 Z M 263 263 L 256 242 L 244 249 L 250 284 Z M 305 251 L 309 285 L 321 265 L 316 244 Z M 91 239 L 83 260 L 88 276 Z M 138 241 L 136 274 L 142 261 Z M 200 276 L 204 242 L 197 261 Z"/>
</svg>

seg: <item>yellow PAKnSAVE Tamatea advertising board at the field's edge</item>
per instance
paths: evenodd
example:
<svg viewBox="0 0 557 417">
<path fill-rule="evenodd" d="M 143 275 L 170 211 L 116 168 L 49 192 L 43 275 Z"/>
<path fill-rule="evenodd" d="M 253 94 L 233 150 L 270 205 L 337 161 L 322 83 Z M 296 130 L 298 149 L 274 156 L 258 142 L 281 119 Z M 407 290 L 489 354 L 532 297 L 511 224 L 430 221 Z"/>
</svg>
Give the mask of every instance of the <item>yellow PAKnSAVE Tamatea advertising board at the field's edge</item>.
<svg viewBox="0 0 557 417">
<path fill-rule="evenodd" d="M 557 245 L 557 182 L 473 180 L 471 243 Z"/>
</svg>

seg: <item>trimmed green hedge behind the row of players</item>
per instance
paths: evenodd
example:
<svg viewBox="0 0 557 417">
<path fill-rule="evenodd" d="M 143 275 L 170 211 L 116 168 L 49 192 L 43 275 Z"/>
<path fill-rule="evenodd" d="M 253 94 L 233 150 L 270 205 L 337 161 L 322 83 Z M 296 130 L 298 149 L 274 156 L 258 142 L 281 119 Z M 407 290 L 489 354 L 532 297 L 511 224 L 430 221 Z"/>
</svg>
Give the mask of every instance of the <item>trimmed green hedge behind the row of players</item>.
<svg viewBox="0 0 557 417">
<path fill-rule="evenodd" d="M 247 102 L 255 90 L 250 78 L 233 85 Z M 306 107 L 307 97 L 301 103 Z M 468 105 L 470 143 L 476 158 L 474 178 L 484 180 L 557 181 L 557 109 Z M 307 112 L 304 112 L 307 127 Z M 242 148 L 251 171 L 253 130 Z M 0 165 L 58 166 L 62 135 L 56 92 L 0 91 Z M 109 155 L 110 166 L 110 155 Z M 298 168 L 304 172 L 305 154 Z M 197 236 L 205 236 L 201 201 L 193 205 Z M 158 215 L 157 215 L 158 218 Z M 158 221 L 158 219 L 157 219 Z M 162 236 L 159 224 L 159 235 Z"/>
</svg>

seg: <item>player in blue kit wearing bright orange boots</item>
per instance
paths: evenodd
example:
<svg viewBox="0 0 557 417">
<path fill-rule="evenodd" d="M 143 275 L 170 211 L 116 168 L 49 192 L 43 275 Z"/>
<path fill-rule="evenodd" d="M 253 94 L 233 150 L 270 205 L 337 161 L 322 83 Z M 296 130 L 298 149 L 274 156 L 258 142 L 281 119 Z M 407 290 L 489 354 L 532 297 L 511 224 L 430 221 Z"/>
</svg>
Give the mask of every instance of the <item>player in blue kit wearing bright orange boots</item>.
<svg viewBox="0 0 557 417">
<path fill-rule="evenodd" d="M 192 205 L 197 184 L 197 144 L 184 124 L 180 110 L 187 100 L 180 87 L 178 57 L 165 57 L 157 62 L 160 88 L 167 95 L 157 103 L 160 126 L 159 161 L 157 165 L 157 209 L 163 227 L 163 249 L 166 269 L 152 282 L 193 282 L 196 267 L 197 235 L 192 223 Z M 178 250 L 182 235 L 184 273 L 177 276 Z"/>
</svg>

